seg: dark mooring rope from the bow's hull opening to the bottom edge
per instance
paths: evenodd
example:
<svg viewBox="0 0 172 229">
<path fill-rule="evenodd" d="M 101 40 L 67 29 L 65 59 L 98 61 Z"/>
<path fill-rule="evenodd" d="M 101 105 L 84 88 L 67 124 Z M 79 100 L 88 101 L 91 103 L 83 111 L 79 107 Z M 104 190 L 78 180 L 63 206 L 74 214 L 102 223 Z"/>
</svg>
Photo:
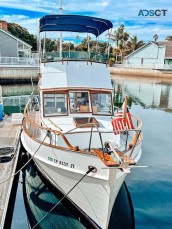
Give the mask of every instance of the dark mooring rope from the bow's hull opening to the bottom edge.
<svg viewBox="0 0 172 229">
<path fill-rule="evenodd" d="M 66 193 L 66 195 L 64 195 L 61 200 L 59 200 L 51 209 L 49 212 L 47 212 L 31 229 L 34 229 L 38 224 L 40 224 L 42 222 L 42 220 L 45 219 L 45 217 L 50 213 L 52 212 L 68 195 L 69 193 L 84 179 L 84 177 L 86 175 L 88 175 L 91 171 L 93 171 L 94 168 L 93 167 L 90 167 L 87 172 L 81 177 L 81 179 Z"/>
</svg>

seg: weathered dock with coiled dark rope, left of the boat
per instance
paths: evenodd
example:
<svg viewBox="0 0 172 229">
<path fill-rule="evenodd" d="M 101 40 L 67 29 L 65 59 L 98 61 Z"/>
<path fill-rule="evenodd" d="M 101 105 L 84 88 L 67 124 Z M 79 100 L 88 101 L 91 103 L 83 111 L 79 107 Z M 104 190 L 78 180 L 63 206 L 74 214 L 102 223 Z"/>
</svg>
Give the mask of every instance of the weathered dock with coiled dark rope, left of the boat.
<svg viewBox="0 0 172 229">
<path fill-rule="evenodd" d="M 12 191 L 12 174 L 16 171 L 20 151 L 20 130 L 21 125 L 13 122 L 12 116 L 5 116 L 0 121 L 0 229 L 4 228 Z"/>
</svg>

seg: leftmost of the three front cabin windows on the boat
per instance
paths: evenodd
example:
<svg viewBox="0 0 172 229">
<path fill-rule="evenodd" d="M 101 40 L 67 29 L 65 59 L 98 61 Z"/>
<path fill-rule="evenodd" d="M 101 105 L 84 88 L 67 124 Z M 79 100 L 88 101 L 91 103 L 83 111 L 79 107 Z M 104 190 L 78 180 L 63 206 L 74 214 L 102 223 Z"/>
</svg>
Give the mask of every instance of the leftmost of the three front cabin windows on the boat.
<svg viewBox="0 0 172 229">
<path fill-rule="evenodd" d="M 66 93 L 44 93 L 44 116 L 67 115 Z"/>
</svg>

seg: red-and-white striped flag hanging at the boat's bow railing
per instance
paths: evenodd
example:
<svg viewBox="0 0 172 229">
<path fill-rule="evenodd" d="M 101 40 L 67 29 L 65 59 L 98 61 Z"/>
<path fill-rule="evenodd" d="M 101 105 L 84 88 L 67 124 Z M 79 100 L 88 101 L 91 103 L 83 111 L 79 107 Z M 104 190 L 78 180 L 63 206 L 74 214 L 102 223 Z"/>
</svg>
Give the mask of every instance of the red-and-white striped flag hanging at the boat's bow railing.
<svg viewBox="0 0 172 229">
<path fill-rule="evenodd" d="M 133 121 L 129 109 L 124 117 L 124 112 L 119 111 L 112 120 L 114 134 L 120 134 L 119 130 L 134 129 Z M 126 127 L 125 127 L 126 126 Z"/>
</svg>

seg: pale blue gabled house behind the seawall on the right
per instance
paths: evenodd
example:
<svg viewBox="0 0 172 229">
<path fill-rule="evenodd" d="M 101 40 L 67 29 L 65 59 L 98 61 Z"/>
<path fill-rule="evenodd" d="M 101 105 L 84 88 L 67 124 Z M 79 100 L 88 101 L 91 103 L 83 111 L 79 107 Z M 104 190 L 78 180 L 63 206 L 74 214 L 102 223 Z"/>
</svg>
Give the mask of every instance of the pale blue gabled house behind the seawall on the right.
<svg viewBox="0 0 172 229">
<path fill-rule="evenodd" d="M 125 57 L 125 64 L 172 64 L 172 42 L 148 42 Z"/>
</svg>

